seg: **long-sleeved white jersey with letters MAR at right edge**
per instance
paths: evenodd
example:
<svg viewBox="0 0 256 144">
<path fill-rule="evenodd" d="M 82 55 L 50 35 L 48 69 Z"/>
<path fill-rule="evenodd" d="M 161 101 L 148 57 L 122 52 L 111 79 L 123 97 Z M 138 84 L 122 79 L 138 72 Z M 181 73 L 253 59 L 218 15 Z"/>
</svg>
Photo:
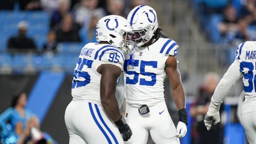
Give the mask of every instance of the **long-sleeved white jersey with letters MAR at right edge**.
<svg viewBox="0 0 256 144">
<path fill-rule="evenodd" d="M 219 105 L 243 76 L 245 101 L 241 108 L 241 114 L 256 111 L 256 42 L 246 41 L 239 44 L 234 62 L 220 80 L 212 96 L 212 102 Z"/>
</svg>

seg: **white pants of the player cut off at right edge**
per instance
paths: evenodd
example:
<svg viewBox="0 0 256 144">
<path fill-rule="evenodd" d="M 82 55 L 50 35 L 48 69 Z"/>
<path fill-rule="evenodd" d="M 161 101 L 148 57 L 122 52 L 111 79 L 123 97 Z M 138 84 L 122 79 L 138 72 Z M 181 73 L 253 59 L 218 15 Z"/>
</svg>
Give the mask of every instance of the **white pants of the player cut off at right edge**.
<svg viewBox="0 0 256 144">
<path fill-rule="evenodd" d="M 241 118 L 249 144 L 256 144 L 256 111 L 242 114 Z"/>
</svg>

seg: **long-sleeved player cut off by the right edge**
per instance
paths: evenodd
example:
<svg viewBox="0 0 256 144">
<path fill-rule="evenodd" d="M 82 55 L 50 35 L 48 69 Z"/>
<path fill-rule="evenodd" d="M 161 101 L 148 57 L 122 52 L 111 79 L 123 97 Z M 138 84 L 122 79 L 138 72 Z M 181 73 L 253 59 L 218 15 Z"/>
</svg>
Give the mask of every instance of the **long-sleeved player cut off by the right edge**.
<svg viewBox="0 0 256 144">
<path fill-rule="evenodd" d="M 220 80 L 212 96 L 204 124 L 210 130 L 220 122 L 219 108 L 230 89 L 243 76 L 245 101 L 241 106 L 241 121 L 249 144 L 256 144 L 256 41 L 239 44 L 235 61 Z"/>
</svg>

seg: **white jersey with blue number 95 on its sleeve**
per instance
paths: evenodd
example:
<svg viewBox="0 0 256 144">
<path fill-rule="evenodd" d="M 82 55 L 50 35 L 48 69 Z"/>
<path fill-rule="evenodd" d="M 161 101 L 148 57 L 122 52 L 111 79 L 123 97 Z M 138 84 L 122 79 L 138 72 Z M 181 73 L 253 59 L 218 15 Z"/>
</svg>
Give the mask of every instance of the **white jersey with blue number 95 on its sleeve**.
<svg viewBox="0 0 256 144">
<path fill-rule="evenodd" d="M 101 74 L 97 72 L 98 66 L 113 64 L 123 70 L 123 63 L 124 55 L 118 48 L 109 44 L 86 44 L 81 50 L 73 74 L 73 100 L 84 100 L 101 106 Z"/>
</svg>

